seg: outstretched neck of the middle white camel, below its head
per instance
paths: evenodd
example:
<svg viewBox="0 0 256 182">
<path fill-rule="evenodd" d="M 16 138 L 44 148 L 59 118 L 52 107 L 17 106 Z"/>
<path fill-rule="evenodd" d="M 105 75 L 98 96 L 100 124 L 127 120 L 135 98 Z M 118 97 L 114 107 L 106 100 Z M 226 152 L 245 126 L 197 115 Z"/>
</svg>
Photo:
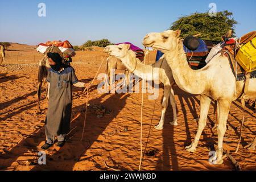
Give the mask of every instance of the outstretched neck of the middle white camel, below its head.
<svg viewBox="0 0 256 182">
<path fill-rule="evenodd" d="M 130 52 L 130 51 L 129 51 Z M 125 65 L 130 72 L 133 72 L 136 76 L 144 80 L 154 80 L 152 76 L 152 65 L 147 65 L 141 63 L 139 59 L 136 58 L 133 52 L 128 53 L 122 59 L 122 63 Z"/>
</svg>

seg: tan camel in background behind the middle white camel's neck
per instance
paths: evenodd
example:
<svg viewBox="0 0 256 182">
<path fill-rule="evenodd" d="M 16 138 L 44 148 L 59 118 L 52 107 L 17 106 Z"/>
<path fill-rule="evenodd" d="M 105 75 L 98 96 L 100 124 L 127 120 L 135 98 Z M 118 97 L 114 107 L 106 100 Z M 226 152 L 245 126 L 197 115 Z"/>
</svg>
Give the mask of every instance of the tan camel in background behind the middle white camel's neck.
<svg viewBox="0 0 256 182">
<path fill-rule="evenodd" d="M 107 59 L 106 74 L 109 76 L 109 84 L 112 85 L 111 87 L 112 89 L 114 88 L 113 84 L 115 82 L 115 80 L 113 80 L 113 78 L 115 78 L 115 73 L 114 73 L 115 70 L 125 71 L 125 76 L 126 76 L 125 84 L 126 86 L 129 85 L 129 79 L 128 79 L 129 70 L 125 67 L 125 65 L 123 65 L 120 59 L 117 59 L 114 56 L 109 56 Z"/>
</svg>

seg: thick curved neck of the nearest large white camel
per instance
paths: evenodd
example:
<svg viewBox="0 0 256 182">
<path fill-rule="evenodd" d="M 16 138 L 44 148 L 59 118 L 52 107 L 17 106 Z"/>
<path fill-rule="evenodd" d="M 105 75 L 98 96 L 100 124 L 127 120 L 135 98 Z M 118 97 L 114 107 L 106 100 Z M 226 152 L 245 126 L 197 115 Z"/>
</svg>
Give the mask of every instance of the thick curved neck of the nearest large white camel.
<svg viewBox="0 0 256 182">
<path fill-rule="evenodd" d="M 191 94 L 204 93 L 206 87 L 205 72 L 195 71 L 189 67 L 183 44 L 180 40 L 177 40 L 176 50 L 166 52 L 165 57 L 179 88 Z"/>
</svg>

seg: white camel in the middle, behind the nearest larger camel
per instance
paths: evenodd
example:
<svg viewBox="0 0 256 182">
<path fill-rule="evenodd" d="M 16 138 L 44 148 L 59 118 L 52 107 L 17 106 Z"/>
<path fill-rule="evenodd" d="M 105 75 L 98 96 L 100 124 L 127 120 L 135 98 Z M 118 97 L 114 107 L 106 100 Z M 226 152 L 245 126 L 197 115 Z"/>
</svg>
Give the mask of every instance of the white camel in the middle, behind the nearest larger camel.
<svg viewBox="0 0 256 182">
<path fill-rule="evenodd" d="M 147 65 L 141 63 L 133 51 L 130 50 L 129 44 L 119 44 L 118 46 L 108 46 L 104 49 L 106 53 L 121 59 L 123 65 L 131 73 L 134 73 L 138 77 L 144 80 L 160 81 L 164 84 L 164 97 L 162 103 L 162 114 L 160 122 L 155 129 L 163 130 L 164 117 L 166 109 L 168 107 L 168 99 L 170 97 L 172 110 L 174 112 L 174 121 L 170 122 L 171 125 L 177 126 L 177 113 L 176 113 L 176 102 L 174 97 L 174 90 L 172 86 L 175 84 L 172 72 L 165 59 L 160 59 L 157 63 Z"/>
</svg>

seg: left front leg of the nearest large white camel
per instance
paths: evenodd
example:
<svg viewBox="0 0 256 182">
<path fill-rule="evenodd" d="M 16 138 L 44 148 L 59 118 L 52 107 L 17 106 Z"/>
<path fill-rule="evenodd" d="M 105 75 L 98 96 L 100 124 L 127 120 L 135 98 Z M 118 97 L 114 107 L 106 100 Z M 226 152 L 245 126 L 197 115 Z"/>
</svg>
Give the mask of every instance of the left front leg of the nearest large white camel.
<svg viewBox="0 0 256 182">
<path fill-rule="evenodd" d="M 193 140 L 192 144 L 188 147 L 185 147 L 188 152 L 195 152 L 197 144 L 200 140 L 201 134 L 204 130 L 204 127 L 207 124 L 207 115 L 210 107 L 210 98 L 207 96 L 201 96 L 200 99 L 200 105 L 201 105 L 201 111 L 200 111 L 200 118 L 199 118 L 199 126 L 197 129 L 196 137 Z"/>
</svg>

